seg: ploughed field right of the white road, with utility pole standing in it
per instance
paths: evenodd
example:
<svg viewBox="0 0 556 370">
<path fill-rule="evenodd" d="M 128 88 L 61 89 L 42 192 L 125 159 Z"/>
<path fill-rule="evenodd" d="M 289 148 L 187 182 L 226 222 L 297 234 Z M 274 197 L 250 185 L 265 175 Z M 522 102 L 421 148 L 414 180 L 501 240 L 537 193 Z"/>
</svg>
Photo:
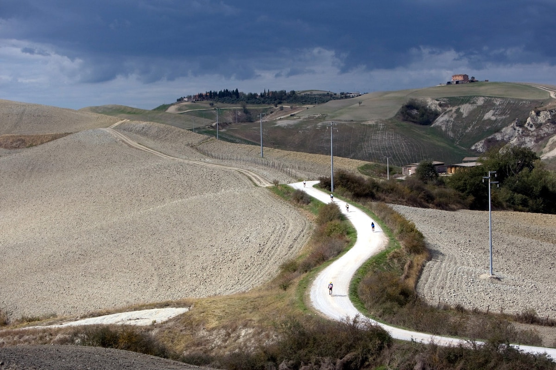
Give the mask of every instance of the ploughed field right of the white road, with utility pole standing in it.
<svg viewBox="0 0 556 370">
<path fill-rule="evenodd" d="M 485 278 L 488 211 L 391 206 L 415 222 L 432 251 L 417 286 L 431 304 L 556 318 L 556 215 L 492 212 L 493 279 Z"/>
</svg>

